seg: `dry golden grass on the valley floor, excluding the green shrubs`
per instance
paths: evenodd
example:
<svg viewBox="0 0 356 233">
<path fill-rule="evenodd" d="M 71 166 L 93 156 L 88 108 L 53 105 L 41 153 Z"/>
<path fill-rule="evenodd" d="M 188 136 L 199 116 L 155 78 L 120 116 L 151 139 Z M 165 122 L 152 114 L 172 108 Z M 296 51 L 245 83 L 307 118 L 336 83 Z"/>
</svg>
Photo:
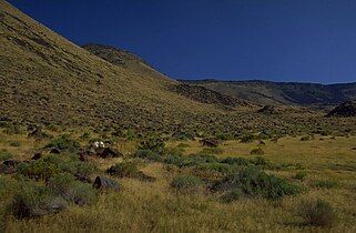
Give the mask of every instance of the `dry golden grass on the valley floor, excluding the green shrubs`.
<svg viewBox="0 0 356 233">
<path fill-rule="evenodd" d="M 16 159 L 29 159 L 45 141 L 34 141 L 24 135 L 0 134 L 0 150 L 7 149 Z M 19 141 L 21 146 L 10 146 Z M 185 154 L 203 150 L 199 141 L 170 141 L 169 148 L 187 144 Z M 296 181 L 296 170 L 273 171 L 279 176 L 304 184 L 308 191 L 279 201 L 247 199 L 222 203 L 216 194 L 205 192 L 177 193 L 170 186 L 179 169 L 169 170 L 164 164 L 142 163 L 142 170 L 156 178 L 153 183 L 133 179 L 120 179 L 122 190 L 99 195 L 90 206 L 70 206 L 54 215 L 31 220 L 16 220 L 9 215 L 1 222 L 6 232 L 356 232 L 356 138 L 316 136 L 311 141 L 301 138 L 283 138 L 278 142 L 266 141 L 263 150 L 266 159 L 275 163 L 294 163 L 303 168 L 307 176 Z M 120 141 L 116 148 L 130 153 L 135 142 Z M 251 158 L 250 151 L 257 142 L 241 143 L 225 141 L 216 156 Z M 354 150 L 353 150 L 354 149 Z M 93 159 L 100 169 L 106 169 L 122 159 Z M 315 181 L 336 181 L 332 189 L 314 188 Z M 332 227 L 318 229 L 304 224 L 296 215 L 296 207 L 303 200 L 323 199 L 337 213 Z M 1 212 L 9 199 L 0 200 Z M 0 227 L 1 229 L 1 227 Z"/>
</svg>

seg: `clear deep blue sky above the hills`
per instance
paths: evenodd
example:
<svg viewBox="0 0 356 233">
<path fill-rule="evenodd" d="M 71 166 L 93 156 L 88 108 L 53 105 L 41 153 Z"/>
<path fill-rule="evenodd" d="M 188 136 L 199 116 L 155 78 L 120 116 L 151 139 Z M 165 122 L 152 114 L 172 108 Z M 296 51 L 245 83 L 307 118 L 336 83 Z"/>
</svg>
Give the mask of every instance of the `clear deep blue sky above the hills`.
<svg viewBox="0 0 356 233">
<path fill-rule="evenodd" d="M 356 82 L 356 0 L 10 0 L 175 79 Z"/>
</svg>

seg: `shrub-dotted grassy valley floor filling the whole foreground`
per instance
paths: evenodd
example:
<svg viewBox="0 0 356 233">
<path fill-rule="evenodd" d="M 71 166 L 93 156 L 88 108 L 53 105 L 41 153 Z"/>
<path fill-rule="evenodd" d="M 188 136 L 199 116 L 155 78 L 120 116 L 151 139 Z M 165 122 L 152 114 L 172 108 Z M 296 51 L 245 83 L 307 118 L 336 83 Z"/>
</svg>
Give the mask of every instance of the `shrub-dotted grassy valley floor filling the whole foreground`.
<svg viewBox="0 0 356 233">
<path fill-rule="evenodd" d="M 17 128 L 0 134 L 2 231 L 355 230 L 353 135 L 263 146 L 243 135 L 212 148 L 173 134 L 58 125 L 35 139 Z M 102 156 L 96 141 L 116 155 Z"/>
</svg>

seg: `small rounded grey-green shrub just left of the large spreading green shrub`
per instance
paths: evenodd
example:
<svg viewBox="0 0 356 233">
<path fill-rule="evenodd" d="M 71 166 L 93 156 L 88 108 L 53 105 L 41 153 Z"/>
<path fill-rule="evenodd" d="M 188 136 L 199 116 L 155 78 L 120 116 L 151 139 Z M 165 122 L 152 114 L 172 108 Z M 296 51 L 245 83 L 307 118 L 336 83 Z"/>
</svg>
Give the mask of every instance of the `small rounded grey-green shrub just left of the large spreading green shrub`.
<svg viewBox="0 0 356 233">
<path fill-rule="evenodd" d="M 202 180 L 194 175 L 179 175 L 171 182 L 171 186 L 180 192 L 197 191 L 202 185 Z"/>
</svg>

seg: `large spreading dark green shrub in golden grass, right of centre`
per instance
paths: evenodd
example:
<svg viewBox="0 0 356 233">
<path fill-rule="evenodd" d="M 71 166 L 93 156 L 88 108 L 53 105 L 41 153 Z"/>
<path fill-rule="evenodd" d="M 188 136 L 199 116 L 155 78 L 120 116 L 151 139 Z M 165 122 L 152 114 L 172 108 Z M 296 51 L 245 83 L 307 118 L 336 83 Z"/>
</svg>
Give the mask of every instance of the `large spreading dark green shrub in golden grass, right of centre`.
<svg viewBox="0 0 356 233">
<path fill-rule="evenodd" d="M 297 185 L 253 166 L 226 175 L 213 185 L 215 191 L 232 191 L 234 189 L 241 189 L 247 196 L 261 195 L 272 200 L 301 192 Z"/>
</svg>

